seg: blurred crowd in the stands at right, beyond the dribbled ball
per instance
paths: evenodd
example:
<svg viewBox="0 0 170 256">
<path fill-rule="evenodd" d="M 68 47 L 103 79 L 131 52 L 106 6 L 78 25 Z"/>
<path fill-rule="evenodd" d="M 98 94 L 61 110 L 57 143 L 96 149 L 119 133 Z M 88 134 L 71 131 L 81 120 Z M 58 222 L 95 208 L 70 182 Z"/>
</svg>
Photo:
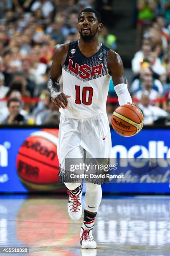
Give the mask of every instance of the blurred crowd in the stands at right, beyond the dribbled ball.
<svg viewBox="0 0 170 256">
<path fill-rule="evenodd" d="M 170 125 L 170 0 L 137 0 L 135 13 L 138 50 L 129 90 L 145 125 Z"/>
</svg>

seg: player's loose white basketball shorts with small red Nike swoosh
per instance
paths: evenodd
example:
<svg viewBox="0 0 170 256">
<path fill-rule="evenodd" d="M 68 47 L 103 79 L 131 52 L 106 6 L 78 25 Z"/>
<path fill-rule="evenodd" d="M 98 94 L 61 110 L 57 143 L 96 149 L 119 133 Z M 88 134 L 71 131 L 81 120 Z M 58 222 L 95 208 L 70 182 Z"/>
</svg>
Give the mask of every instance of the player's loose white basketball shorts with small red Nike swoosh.
<svg viewBox="0 0 170 256">
<path fill-rule="evenodd" d="M 107 113 L 73 119 L 61 114 L 58 159 L 65 169 L 66 158 L 110 158 L 112 148 Z"/>
</svg>

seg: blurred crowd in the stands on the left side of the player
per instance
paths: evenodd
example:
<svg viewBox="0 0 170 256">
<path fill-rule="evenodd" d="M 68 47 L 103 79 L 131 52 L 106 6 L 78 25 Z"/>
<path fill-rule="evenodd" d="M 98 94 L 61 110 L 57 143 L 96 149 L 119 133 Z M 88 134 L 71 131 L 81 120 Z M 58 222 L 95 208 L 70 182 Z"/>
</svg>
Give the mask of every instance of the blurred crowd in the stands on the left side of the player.
<svg viewBox="0 0 170 256">
<path fill-rule="evenodd" d="M 107 29 L 112 1 L 0 0 L 1 124 L 59 123 L 46 90 L 52 56 L 56 44 L 79 38 L 78 14 L 86 7 L 101 13 L 100 41 L 116 49 L 116 37 Z"/>
</svg>

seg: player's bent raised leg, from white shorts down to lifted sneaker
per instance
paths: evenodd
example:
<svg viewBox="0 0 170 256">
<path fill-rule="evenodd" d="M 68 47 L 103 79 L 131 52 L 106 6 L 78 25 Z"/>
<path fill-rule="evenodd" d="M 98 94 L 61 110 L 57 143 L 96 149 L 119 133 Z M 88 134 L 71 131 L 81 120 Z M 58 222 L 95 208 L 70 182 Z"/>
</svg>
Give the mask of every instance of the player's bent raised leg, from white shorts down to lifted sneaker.
<svg viewBox="0 0 170 256">
<path fill-rule="evenodd" d="M 69 179 L 70 170 L 66 170 L 65 159 L 83 158 L 84 149 L 80 146 L 81 134 L 77 129 L 76 120 L 61 115 L 58 138 L 58 159 L 60 163 L 60 182 L 64 182 L 68 188 L 69 195 L 68 212 L 73 220 L 79 220 L 82 214 L 81 180 L 74 183 L 74 179 Z"/>
</svg>

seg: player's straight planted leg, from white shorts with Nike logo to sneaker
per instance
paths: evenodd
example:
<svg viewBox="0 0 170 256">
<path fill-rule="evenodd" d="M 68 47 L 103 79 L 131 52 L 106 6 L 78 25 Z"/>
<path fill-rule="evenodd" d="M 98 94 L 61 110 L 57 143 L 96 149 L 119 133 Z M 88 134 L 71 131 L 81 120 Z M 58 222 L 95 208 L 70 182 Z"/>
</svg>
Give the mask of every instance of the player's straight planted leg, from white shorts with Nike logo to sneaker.
<svg viewBox="0 0 170 256">
<path fill-rule="evenodd" d="M 83 147 L 86 150 L 86 158 L 108 159 L 111 153 L 111 135 L 106 113 L 102 113 L 84 122 Z M 86 183 L 84 222 L 81 227 L 81 248 L 96 248 L 92 231 L 97 210 L 99 208 L 102 190 L 100 184 Z"/>
</svg>

